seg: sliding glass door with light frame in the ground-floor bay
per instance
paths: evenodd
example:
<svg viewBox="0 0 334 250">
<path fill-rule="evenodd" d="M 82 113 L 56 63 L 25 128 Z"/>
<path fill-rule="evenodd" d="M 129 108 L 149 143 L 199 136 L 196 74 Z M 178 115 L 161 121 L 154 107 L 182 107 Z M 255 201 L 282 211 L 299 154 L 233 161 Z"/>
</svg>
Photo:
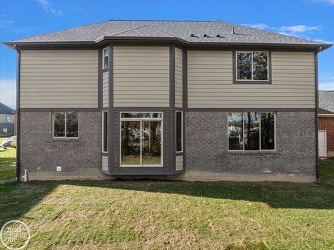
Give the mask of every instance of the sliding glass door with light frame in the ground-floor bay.
<svg viewBox="0 0 334 250">
<path fill-rule="evenodd" d="M 162 166 L 162 113 L 121 113 L 120 166 Z"/>
</svg>

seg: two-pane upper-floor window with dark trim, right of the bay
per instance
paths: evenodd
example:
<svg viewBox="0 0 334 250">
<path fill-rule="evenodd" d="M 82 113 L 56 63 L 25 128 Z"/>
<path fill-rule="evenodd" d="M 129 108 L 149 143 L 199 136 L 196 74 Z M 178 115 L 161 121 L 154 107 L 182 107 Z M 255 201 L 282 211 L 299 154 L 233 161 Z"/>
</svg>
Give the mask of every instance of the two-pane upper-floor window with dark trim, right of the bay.
<svg viewBox="0 0 334 250">
<path fill-rule="evenodd" d="M 235 60 L 237 83 L 269 81 L 269 52 L 236 52 Z"/>
</svg>

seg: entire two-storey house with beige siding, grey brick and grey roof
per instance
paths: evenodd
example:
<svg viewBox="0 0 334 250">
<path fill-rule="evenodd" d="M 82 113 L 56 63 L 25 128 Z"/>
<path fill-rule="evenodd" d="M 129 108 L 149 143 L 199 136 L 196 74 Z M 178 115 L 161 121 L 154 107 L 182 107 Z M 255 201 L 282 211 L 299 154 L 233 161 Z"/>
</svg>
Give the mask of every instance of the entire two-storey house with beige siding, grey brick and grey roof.
<svg viewBox="0 0 334 250">
<path fill-rule="evenodd" d="M 107 21 L 17 50 L 30 179 L 313 181 L 317 54 L 227 22 Z"/>
</svg>

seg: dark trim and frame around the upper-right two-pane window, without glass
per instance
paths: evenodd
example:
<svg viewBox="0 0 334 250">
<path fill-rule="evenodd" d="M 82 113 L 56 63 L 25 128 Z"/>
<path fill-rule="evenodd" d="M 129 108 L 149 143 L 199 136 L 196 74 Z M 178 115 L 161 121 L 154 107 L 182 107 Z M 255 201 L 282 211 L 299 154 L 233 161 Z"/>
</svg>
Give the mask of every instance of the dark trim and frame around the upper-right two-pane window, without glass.
<svg viewBox="0 0 334 250">
<path fill-rule="evenodd" d="M 238 80 L 237 79 L 237 53 L 252 53 L 253 58 L 253 52 L 267 52 L 268 53 L 268 80 Z M 233 50 L 232 51 L 232 70 L 233 70 L 233 84 L 272 84 L 272 74 L 271 74 L 271 51 L 269 50 Z M 253 75 L 253 60 L 252 60 L 252 75 Z"/>
</svg>

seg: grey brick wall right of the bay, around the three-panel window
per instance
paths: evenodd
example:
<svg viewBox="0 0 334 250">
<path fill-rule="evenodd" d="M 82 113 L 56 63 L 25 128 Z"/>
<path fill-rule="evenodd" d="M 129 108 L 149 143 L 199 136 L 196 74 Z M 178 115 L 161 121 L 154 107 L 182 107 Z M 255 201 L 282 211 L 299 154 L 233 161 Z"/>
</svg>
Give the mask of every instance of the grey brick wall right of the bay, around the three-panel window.
<svg viewBox="0 0 334 250">
<path fill-rule="evenodd" d="M 212 173 L 214 178 L 218 173 L 240 173 L 244 180 L 245 174 L 262 176 L 262 180 L 275 175 L 280 180 L 315 180 L 314 112 L 277 112 L 276 152 L 271 153 L 228 152 L 228 112 L 186 112 L 185 125 L 187 174 Z"/>
</svg>

